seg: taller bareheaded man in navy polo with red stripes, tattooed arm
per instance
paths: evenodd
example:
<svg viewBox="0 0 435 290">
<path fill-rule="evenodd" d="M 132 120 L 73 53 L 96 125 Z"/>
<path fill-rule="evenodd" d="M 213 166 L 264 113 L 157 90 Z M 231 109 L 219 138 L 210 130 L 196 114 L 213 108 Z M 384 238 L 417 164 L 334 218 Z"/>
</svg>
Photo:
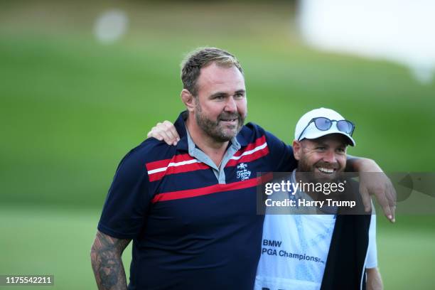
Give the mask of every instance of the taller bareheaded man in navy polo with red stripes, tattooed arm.
<svg viewBox="0 0 435 290">
<path fill-rule="evenodd" d="M 291 171 L 296 161 L 272 134 L 243 126 L 245 78 L 233 55 L 197 50 L 181 78 L 178 144 L 147 139 L 117 168 L 92 245 L 99 289 L 127 289 L 121 255 L 131 240 L 128 289 L 254 285 L 263 222 L 257 172 Z"/>
</svg>

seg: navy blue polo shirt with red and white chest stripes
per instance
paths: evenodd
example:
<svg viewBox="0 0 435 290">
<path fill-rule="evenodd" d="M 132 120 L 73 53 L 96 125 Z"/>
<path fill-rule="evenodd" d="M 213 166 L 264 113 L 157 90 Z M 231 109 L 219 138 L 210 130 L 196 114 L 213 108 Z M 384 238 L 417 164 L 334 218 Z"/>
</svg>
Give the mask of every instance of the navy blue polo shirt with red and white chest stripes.
<svg viewBox="0 0 435 290">
<path fill-rule="evenodd" d="M 98 230 L 133 240 L 129 289 L 250 290 L 264 220 L 257 172 L 296 168 L 291 146 L 248 123 L 213 168 L 189 151 L 183 113 L 175 126 L 177 146 L 146 139 L 119 163 Z"/>
</svg>

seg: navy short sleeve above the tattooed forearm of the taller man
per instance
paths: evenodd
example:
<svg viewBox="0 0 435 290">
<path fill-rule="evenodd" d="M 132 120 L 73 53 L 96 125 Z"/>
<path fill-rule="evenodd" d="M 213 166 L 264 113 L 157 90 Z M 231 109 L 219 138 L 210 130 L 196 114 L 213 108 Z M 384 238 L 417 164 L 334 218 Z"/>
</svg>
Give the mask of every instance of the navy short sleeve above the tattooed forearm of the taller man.
<svg viewBox="0 0 435 290">
<path fill-rule="evenodd" d="M 149 178 L 140 150 L 122 159 L 109 188 L 98 230 L 111 237 L 133 239 L 144 226 L 149 205 Z"/>
</svg>

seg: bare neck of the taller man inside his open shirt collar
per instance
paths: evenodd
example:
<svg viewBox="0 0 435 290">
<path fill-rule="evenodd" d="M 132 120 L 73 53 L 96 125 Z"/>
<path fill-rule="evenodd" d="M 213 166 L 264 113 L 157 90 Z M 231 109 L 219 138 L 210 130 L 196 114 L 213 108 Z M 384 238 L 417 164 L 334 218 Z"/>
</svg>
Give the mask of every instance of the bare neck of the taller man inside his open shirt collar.
<svg viewBox="0 0 435 290">
<path fill-rule="evenodd" d="M 196 146 L 198 146 L 211 160 L 220 166 L 227 146 L 230 141 L 218 142 L 205 134 L 196 124 L 194 117 L 190 116 L 186 120 L 186 127 L 189 131 L 190 138 L 193 140 Z"/>
</svg>

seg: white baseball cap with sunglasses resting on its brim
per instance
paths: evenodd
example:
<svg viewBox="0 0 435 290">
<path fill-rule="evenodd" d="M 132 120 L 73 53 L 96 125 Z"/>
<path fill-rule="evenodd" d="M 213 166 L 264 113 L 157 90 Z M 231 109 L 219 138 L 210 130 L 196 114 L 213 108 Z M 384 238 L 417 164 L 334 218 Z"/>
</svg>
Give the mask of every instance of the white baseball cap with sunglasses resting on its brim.
<svg viewBox="0 0 435 290">
<path fill-rule="evenodd" d="M 324 117 L 335 122 L 332 122 L 331 128 L 323 131 L 321 129 L 318 129 L 316 127 L 316 124 L 313 122 L 313 119 L 319 117 Z M 355 146 L 355 141 L 351 136 L 352 131 L 350 131 L 350 133 L 347 133 L 345 130 L 340 131 L 338 129 L 337 122 L 340 120 L 345 120 L 345 118 L 342 115 L 338 114 L 338 112 L 335 112 L 333 109 L 313 109 L 310 112 L 304 114 L 304 116 L 299 119 L 298 123 L 296 124 L 296 129 L 294 130 L 294 139 L 297 141 L 301 141 L 302 139 L 317 139 L 321 136 L 325 136 L 328 134 L 342 134 L 348 137 L 350 145 Z M 344 126 L 346 126 L 346 123 L 344 123 Z"/>
</svg>

